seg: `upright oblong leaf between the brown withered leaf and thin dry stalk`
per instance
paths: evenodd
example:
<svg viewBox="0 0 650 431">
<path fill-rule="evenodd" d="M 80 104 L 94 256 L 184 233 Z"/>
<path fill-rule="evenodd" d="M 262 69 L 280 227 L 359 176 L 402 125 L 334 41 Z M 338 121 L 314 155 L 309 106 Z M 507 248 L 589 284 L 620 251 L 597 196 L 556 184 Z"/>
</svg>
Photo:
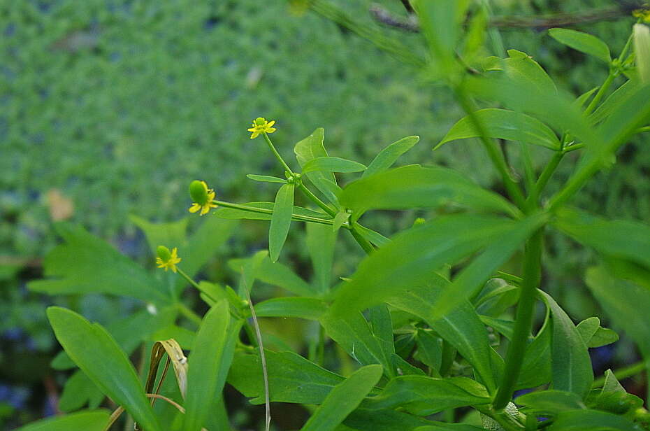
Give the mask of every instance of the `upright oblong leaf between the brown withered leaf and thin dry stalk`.
<svg viewBox="0 0 650 431">
<path fill-rule="evenodd" d="M 219 368 L 227 350 L 229 325 L 229 304 L 222 299 L 203 318 L 189 355 L 183 431 L 201 430 L 225 383 L 225 375 L 219 381 Z"/>
</svg>

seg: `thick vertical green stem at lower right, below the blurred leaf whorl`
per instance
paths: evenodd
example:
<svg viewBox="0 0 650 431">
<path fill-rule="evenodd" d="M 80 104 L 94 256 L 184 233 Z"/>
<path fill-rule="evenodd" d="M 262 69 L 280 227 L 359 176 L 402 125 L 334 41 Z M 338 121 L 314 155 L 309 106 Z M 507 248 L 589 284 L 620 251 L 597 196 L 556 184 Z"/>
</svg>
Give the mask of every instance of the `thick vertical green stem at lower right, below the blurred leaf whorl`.
<svg viewBox="0 0 650 431">
<path fill-rule="evenodd" d="M 493 407 L 496 410 L 505 408 L 512 399 L 512 392 L 521 371 L 523 355 L 526 353 L 526 344 L 533 326 L 537 286 L 540 283 L 541 276 L 542 240 L 543 229 L 539 229 L 526 243 L 526 252 L 523 256 L 523 281 L 519 292 L 519 304 L 517 304 L 517 318 L 505 358 L 503 379 L 496 397 L 494 397 Z"/>
</svg>

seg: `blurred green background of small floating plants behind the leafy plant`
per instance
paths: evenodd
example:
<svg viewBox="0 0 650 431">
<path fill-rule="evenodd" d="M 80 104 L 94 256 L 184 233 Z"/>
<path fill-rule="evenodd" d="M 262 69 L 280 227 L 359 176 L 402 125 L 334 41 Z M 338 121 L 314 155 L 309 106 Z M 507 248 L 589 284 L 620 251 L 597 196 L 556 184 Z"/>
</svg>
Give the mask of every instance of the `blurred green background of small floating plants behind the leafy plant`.
<svg viewBox="0 0 650 431">
<path fill-rule="evenodd" d="M 372 2 L 335 3 L 373 24 Z M 378 3 L 403 15 L 400 1 Z M 493 8 L 500 16 L 530 16 L 613 3 L 497 0 Z M 572 28 L 600 36 L 618 52 L 632 22 Z M 416 34 L 386 31 L 420 45 Z M 325 128 L 331 155 L 363 163 L 389 143 L 418 134 L 420 143 L 401 162 L 445 164 L 500 187 L 475 142 L 431 152 L 462 116 L 447 90 L 284 0 L 4 1 L 0 32 L 0 426 L 52 414 L 64 379 L 47 365 L 58 346 L 44 309 L 59 299 L 25 288 L 41 276 L 41 259 L 57 243 L 53 222 L 80 223 L 151 267 L 130 214 L 157 222 L 185 217 L 187 185 L 196 178 L 208 181 L 219 199 L 272 199 L 273 188 L 245 178 L 281 174 L 261 141 L 248 139 L 252 118 L 277 120 L 273 138 L 287 158 L 316 127 Z M 544 29 L 505 29 L 503 37 L 506 48 L 532 55 L 558 86 L 575 94 L 607 75 L 601 64 L 556 43 Z M 574 203 L 609 217 L 650 220 L 650 154 L 640 151 L 643 145 L 640 139 L 626 146 L 622 163 L 599 174 Z M 516 151 L 508 156 L 517 163 Z M 548 156 L 535 148 L 538 163 Z M 566 159 L 551 191 L 568 176 L 575 154 Z M 384 215 L 371 224 L 391 234 L 415 216 Z M 208 275 L 227 280 L 222 262 L 266 247 L 265 229 L 245 222 Z M 300 267 L 300 235 L 289 241 L 283 259 Z M 575 320 L 602 316 L 582 281 L 593 255 L 566 239 L 551 239 L 549 251 L 545 288 Z M 349 263 L 340 271 L 346 269 Z M 132 304 L 96 295 L 75 306 L 93 318 L 117 315 Z M 595 366 L 635 360 L 625 339 L 618 346 L 594 352 Z"/>
</svg>

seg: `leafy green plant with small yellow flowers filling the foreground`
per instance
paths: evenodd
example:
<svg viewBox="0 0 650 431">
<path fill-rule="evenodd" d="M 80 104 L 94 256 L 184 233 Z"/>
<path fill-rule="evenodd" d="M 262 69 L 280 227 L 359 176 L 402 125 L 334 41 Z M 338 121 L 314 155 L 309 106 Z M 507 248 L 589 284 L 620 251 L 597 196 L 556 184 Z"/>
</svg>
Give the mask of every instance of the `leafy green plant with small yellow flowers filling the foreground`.
<svg viewBox="0 0 650 431">
<path fill-rule="evenodd" d="M 165 306 L 171 310 L 166 323 L 147 322 L 152 332 L 146 337 L 127 331 L 122 332 L 121 342 L 136 346 L 142 339 L 163 340 L 161 345 L 166 346 L 176 373 L 165 395 L 157 390 L 150 393 L 164 354 L 159 344 L 154 345 L 157 353 L 152 358 L 157 359 L 152 359 L 143 385 L 120 343 L 103 327 L 70 310 L 48 310 L 57 339 L 80 367 L 80 375 L 131 414 L 138 427 L 147 431 L 229 428 L 222 397 L 228 381 L 252 397 L 254 404 L 266 404 L 267 412 L 270 402 L 305 404 L 312 415 L 303 430 L 649 429 L 650 414 L 643 401 L 627 393 L 613 372 L 598 381 L 593 376 L 588 348 L 611 344 L 618 335 L 601 327 L 598 318 L 575 325 L 554 298 L 540 289 L 540 283 L 548 231 L 554 229 L 593 248 L 601 261 L 586 270 L 586 283 L 648 360 L 650 226 L 607 220 L 569 202 L 596 172 L 611 169 L 616 150 L 633 135 L 647 131 L 650 31 L 644 24 L 635 24 L 625 48 L 612 59 L 598 38 L 552 29 L 557 41 L 609 66 L 605 83 L 576 98 L 559 91 L 523 52 L 510 50 L 505 58 L 484 54 L 487 8 L 472 9 L 469 31 L 461 38 L 468 1 L 412 4 L 426 40 L 425 56 L 419 57 L 406 45 L 377 40 L 349 19 L 345 24 L 379 42 L 381 48 L 400 52 L 403 59 L 421 67 L 426 79 L 452 90 L 466 117 L 439 146 L 478 138 L 507 197 L 445 167 L 391 168 L 417 143 L 417 136 L 387 146 L 366 167 L 328 155 L 324 131 L 316 129 L 294 147 L 298 172 L 271 141 L 273 122 L 257 118 L 252 138 L 263 136 L 286 179 L 257 174 L 249 178 L 281 184 L 275 202 L 233 204 L 215 199 L 215 192 L 202 181 L 190 185 L 192 212 L 204 214 L 216 208 L 205 223 L 212 229 L 229 226 L 219 219 L 270 220 L 268 252 L 261 250 L 231 262 L 240 274 L 236 289 L 196 283 L 192 278 L 201 257 L 214 250 L 210 235 L 195 235 L 208 251 L 186 246 L 184 254 L 178 236 L 161 234 L 175 229 L 147 227 L 159 266 L 181 276 L 170 278 L 171 289 L 165 292 L 131 262 L 87 234 L 68 231 L 68 244 L 55 250 L 48 262 L 48 275 L 68 278 L 38 281 L 31 288 L 136 296 L 151 302 L 154 311 L 146 315 L 151 320 Z M 315 0 L 311 5 L 343 20 L 328 3 Z M 499 45 L 498 34 L 491 31 L 490 36 Z M 611 92 L 617 76 L 625 76 L 626 82 Z M 479 101 L 486 107 L 479 108 Z M 519 143 L 522 167 L 506 161 L 496 139 L 509 141 L 507 145 Z M 539 175 L 528 155 L 530 145 L 553 152 Z M 582 155 L 572 176 L 560 190 L 547 195 L 549 179 L 565 155 L 573 152 Z M 514 175 L 517 168 L 523 171 L 521 182 Z M 354 172 L 363 174 L 341 188 L 334 173 Z M 309 199 L 315 209 L 294 206 L 296 193 Z M 371 210 L 421 208 L 436 209 L 440 215 L 417 220 L 391 239 L 360 223 Z M 292 222 L 307 226 L 306 243 L 315 274 L 311 283 L 277 262 Z M 335 283 L 331 268 L 341 231 L 349 232 L 367 257 L 352 276 Z M 178 255 L 175 248 L 180 248 Z M 503 271 L 521 248 L 520 274 Z M 126 283 L 124 274 L 129 275 Z M 184 281 L 210 306 L 203 318 L 180 301 Z M 250 291 L 256 281 L 277 285 L 294 296 L 252 304 Z M 533 330 L 537 305 L 544 313 L 542 325 Z M 177 326 L 177 313 L 198 330 Z M 308 358 L 289 350 L 265 351 L 258 317 L 317 322 L 319 330 L 310 340 Z M 240 329 L 245 337 L 240 337 Z M 328 348 L 328 339 L 335 348 Z M 192 346 L 187 359 L 180 351 L 183 346 Z M 361 366 L 354 372 L 351 359 Z M 65 361 L 63 356 L 59 359 Z M 328 371 L 326 365 L 338 367 L 339 373 Z M 644 368 L 635 365 L 633 372 Z M 163 372 L 159 388 L 164 376 Z M 530 388 L 537 390 L 513 400 L 516 390 Z M 154 413 L 147 396 L 166 401 L 167 409 Z M 464 409 L 478 412 L 482 422 L 462 418 Z M 429 417 L 441 412 L 447 421 Z M 25 429 L 101 430 L 114 419 L 106 412 L 89 411 Z M 269 419 L 267 413 L 266 428 Z M 458 423 L 450 424 L 454 422 Z"/>
</svg>

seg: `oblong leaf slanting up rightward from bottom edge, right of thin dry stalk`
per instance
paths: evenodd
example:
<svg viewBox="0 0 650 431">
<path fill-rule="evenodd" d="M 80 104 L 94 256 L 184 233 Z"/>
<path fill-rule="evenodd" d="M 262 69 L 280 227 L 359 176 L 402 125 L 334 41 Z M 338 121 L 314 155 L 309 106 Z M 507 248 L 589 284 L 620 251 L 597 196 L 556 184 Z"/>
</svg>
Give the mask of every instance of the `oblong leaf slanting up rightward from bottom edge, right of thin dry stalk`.
<svg viewBox="0 0 650 431">
<path fill-rule="evenodd" d="M 361 404 L 382 376 L 381 365 L 368 365 L 352 373 L 327 395 L 302 431 L 333 431 Z"/>
</svg>

